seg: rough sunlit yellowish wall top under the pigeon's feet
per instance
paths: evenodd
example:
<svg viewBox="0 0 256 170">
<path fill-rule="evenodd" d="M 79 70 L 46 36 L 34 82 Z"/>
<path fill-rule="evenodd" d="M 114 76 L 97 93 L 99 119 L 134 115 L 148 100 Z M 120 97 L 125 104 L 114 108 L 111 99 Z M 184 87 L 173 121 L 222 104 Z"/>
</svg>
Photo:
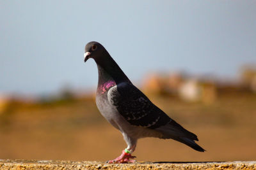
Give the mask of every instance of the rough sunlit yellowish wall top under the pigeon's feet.
<svg viewBox="0 0 256 170">
<path fill-rule="evenodd" d="M 0 160 L 0 169 L 256 169 L 250 162 L 137 162 L 107 164 L 93 161 Z"/>
</svg>

